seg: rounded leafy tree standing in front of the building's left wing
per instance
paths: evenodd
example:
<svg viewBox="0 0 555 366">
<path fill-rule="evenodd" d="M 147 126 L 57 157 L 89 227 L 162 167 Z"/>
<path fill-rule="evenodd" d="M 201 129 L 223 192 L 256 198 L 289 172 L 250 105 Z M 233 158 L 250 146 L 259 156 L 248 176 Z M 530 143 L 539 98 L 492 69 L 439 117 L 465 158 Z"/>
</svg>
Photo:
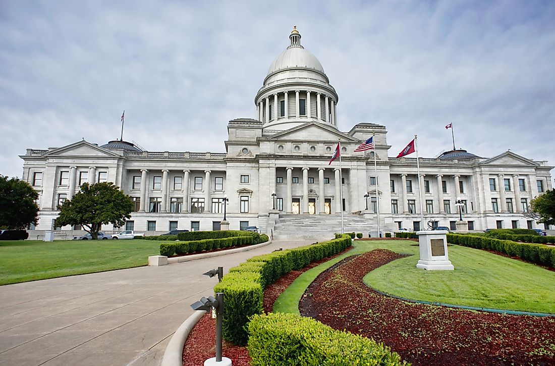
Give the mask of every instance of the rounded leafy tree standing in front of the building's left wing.
<svg viewBox="0 0 555 366">
<path fill-rule="evenodd" d="M 97 239 L 102 224 L 122 226 L 131 217 L 132 210 L 131 198 L 112 182 L 84 183 L 80 192 L 60 207 L 56 225 L 82 225 Z"/>
</svg>

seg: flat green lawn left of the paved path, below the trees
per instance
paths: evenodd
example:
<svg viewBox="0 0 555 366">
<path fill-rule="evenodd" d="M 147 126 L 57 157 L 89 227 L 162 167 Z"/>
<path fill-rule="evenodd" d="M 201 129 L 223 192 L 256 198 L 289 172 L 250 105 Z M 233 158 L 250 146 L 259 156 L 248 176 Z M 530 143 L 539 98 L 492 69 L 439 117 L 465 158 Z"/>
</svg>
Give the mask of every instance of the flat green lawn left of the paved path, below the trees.
<svg viewBox="0 0 555 366">
<path fill-rule="evenodd" d="M 0 285 L 147 265 L 150 240 L 0 241 Z"/>
</svg>

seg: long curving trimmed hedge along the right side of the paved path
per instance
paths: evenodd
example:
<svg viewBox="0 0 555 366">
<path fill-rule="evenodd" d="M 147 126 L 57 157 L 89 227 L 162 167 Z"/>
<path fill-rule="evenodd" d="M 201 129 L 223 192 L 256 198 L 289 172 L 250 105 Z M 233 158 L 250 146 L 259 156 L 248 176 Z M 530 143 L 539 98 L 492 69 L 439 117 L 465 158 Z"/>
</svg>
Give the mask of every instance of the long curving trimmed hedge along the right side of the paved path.
<svg viewBox="0 0 555 366">
<path fill-rule="evenodd" d="M 262 313 L 266 286 L 292 269 L 301 269 L 350 246 L 351 237 L 346 234 L 325 243 L 257 255 L 238 267 L 231 268 L 214 287 L 214 292 L 223 292 L 225 298 L 224 338 L 235 344 L 246 344 L 248 334 L 245 325 L 251 315 Z"/>
</svg>

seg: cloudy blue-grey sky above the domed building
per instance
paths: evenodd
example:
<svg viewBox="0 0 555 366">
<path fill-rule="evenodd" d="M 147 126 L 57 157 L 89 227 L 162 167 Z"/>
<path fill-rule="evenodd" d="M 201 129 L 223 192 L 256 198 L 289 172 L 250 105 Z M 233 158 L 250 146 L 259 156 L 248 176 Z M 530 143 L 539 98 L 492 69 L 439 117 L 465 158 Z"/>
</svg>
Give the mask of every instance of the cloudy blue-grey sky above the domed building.
<svg viewBox="0 0 555 366">
<path fill-rule="evenodd" d="M 553 1 L 0 0 L 0 174 L 26 148 L 120 136 L 225 152 L 296 25 L 339 94 L 341 131 L 384 124 L 390 156 L 507 149 L 555 165 Z"/>
</svg>

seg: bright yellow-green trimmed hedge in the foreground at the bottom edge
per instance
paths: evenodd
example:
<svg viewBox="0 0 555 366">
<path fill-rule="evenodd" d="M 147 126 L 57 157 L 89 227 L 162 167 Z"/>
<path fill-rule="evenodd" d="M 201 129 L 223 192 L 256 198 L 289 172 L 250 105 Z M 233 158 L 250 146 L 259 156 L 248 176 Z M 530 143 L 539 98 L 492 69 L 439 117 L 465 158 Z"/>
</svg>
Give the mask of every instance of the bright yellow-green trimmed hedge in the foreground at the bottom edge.
<svg viewBox="0 0 555 366">
<path fill-rule="evenodd" d="M 405 365 L 382 343 L 294 314 L 254 315 L 248 324 L 253 366 Z"/>
</svg>

